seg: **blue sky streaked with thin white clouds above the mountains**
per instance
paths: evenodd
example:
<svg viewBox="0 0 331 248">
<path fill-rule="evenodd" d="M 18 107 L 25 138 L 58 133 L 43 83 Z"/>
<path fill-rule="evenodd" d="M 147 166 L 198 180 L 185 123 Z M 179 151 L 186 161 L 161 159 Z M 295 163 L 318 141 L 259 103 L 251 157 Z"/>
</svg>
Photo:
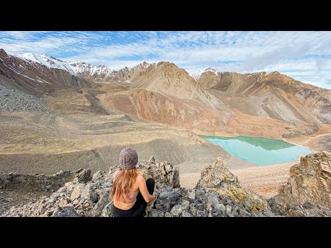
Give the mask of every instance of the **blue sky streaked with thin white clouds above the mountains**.
<svg viewBox="0 0 331 248">
<path fill-rule="evenodd" d="M 0 48 L 14 55 L 45 53 L 119 70 L 170 61 L 189 73 L 279 71 L 331 89 L 331 32 L 0 32 Z"/>
</svg>

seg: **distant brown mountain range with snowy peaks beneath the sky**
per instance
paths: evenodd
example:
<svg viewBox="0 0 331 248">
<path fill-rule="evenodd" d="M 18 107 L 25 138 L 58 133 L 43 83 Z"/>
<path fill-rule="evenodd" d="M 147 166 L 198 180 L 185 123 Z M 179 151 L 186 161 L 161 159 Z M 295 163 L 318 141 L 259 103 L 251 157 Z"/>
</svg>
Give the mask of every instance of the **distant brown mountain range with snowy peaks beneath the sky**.
<svg viewBox="0 0 331 248">
<path fill-rule="evenodd" d="M 318 126 L 318 132 L 331 123 L 330 90 L 279 72 L 240 74 L 208 68 L 188 74 L 170 62 L 111 70 L 46 54 L 19 57 L 0 50 L 0 77 L 37 96 L 63 87 L 81 89 L 101 112 L 119 111 L 197 134 L 279 138 L 298 127 Z"/>
</svg>

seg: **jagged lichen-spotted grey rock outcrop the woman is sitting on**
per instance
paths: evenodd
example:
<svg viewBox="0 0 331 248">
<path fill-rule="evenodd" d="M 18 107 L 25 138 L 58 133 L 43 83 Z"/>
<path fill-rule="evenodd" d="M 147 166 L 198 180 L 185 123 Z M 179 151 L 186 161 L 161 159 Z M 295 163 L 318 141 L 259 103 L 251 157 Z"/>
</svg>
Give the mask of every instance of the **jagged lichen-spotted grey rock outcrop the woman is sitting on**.
<svg viewBox="0 0 331 248">
<path fill-rule="evenodd" d="M 214 167 L 203 169 L 194 189 L 179 187 L 179 171 L 170 163 L 155 163 L 151 157 L 137 167 L 145 178 L 156 180 L 158 198 L 149 216 L 273 216 L 261 196 L 241 188 L 237 178 L 223 167 L 221 158 Z M 51 196 L 12 207 L 2 216 L 112 216 L 109 193 L 114 169 L 110 168 L 108 174 L 96 172 L 92 178 L 77 176 Z"/>
</svg>

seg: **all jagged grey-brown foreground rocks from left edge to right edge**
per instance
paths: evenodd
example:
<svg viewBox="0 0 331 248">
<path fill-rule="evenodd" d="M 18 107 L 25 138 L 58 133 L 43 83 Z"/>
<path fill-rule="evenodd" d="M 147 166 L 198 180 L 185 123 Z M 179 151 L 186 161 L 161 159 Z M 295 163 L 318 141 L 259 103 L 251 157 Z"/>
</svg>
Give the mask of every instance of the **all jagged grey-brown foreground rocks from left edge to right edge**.
<svg viewBox="0 0 331 248">
<path fill-rule="evenodd" d="M 148 217 L 331 216 L 330 161 L 330 154 L 323 152 L 301 158 L 301 163 L 291 168 L 295 176 L 291 176 L 288 185 L 281 187 L 280 194 L 269 202 L 243 189 L 237 177 L 223 166 L 221 158 L 217 158 L 214 165 L 205 166 L 194 189 L 180 187 L 177 167 L 166 161 L 156 163 L 154 156 L 149 161 L 139 162 L 137 168 L 145 178 L 156 180 L 158 197 Z M 11 207 L 1 216 L 112 216 L 109 193 L 115 169 L 110 167 L 109 173 L 99 171 L 93 175 L 90 169 L 80 169 L 77 172 L 59 172 L 54 176 L 37 176 L 38 180 L 31 180 L 31 176 L 24 178 L 21 175 L 0 174 L 1 190 L 17 184 L 17 178 L 23 184 L 37 187 L 43 185 L 46 191 L 57 189 L 50 196 L 43 196 L 34 203 Z M 314 174 L 311 174 L 312 170 Z M 63 180 L 59 180 L 59 175 L 63 175 Z M 298 176 L 307 179 L 298 180 Z M 70 177 L 74 179 L 68 181 Z M 40 183 L 41 178 L 46 183 Z M 307 184 L 308 180 L 312 184 Z M 316 181 L 321 183 L 314 183 Z M 298 198 L 296 191 L 293 191 L 294 183 L 299 186 L 296 189 L 301 191 L 300 194 L 305 194 L 305 198 Z M 292 191 L 285 190 L 289 185 L 292 185 Z M 285 208 L 282 205 L 283 199 L 287 199 Z M 299 211 L 291 208 L 292 203 L 297 204 L 296 209 Z M 315 205 L 319 211 L 315 211 Z"/>
</svg>

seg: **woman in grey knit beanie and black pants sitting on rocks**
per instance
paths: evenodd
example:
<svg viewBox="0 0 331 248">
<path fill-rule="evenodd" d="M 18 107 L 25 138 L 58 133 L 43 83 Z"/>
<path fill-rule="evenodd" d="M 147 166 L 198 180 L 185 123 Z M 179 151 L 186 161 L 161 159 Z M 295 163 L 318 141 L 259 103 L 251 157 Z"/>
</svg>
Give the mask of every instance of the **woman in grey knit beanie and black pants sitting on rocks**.
<svg viewBox="0 0 331 248">
<path fill-rule="evenodd" d="M 114 217 L 143 217 L 148 203 L 154 202 L 154 179 L 145 180 L 136 165 L 138 154 L 132 148 L 124 148 L 119 154 L 119 169 L 114 173 L 110 198 L 114 200 Z"/>
</svg>

